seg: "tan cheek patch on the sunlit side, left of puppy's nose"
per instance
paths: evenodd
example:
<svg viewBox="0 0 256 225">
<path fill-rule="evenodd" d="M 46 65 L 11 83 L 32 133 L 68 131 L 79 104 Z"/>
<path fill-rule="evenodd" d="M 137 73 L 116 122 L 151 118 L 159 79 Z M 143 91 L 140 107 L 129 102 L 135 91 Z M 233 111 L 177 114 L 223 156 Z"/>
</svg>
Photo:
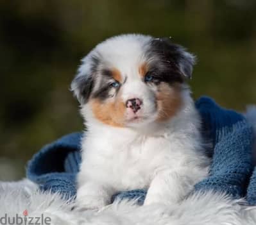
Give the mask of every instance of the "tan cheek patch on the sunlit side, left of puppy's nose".
<svg viewBox="0 0 256 225">
<path fill-rule="evenodd" d="M 114 102 L 101 102 L 99 100 L 92 100 L 90 102 L 94 116 L 101 122 L 110 126 L 123 127 L 124 113 L 126 106 L 117 99 Z"/>
</svg>

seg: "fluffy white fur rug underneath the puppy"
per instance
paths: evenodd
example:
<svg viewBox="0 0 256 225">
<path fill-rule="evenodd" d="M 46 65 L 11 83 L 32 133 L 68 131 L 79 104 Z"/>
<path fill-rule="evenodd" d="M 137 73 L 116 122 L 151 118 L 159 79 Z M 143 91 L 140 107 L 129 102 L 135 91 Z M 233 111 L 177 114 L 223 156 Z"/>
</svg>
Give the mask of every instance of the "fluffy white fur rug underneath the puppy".
<svg viewBox="0 0 256 225">
<path fill-rule="evenodd" d="M 256 131 L 256 107 L 248 108 L 246 117 Z M 0 182 L 0 224 L 5 222 L 3 217 L 7 219 L 17 214 L 22 218 L 34 218 L 33 224 L 38 224 L 35 218 L 43 214 L 44 218 L 51 219 L 50 224 L 61 225 L 255 225 L 256 206 L 243 203 L 243 199 L 233 200 L 223 194 L 209 192 L 194 194 L 180 204 L 137 206 L 132 201 L 121 201 L 99 212 L 78 212 L 72 210 L 73 203 L 65 202 L 58 194 L 39 192 L 37 185 L 28 179 Z"/>
</svg>

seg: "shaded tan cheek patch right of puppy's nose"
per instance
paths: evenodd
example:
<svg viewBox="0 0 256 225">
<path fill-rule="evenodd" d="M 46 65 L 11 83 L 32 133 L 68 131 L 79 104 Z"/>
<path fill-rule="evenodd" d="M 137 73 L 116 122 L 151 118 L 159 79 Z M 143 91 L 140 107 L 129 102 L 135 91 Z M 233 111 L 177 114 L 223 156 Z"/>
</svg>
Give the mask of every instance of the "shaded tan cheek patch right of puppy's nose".
<svg viewBox="0 0 256 225">
<path fill-rule="evenodd" d="M 158 122 L 164 122 L 175 116 L 182 105 L 181 87 L 179 84 L 170 87 L 161 83 L 157 94 Z"/>
</svg>

